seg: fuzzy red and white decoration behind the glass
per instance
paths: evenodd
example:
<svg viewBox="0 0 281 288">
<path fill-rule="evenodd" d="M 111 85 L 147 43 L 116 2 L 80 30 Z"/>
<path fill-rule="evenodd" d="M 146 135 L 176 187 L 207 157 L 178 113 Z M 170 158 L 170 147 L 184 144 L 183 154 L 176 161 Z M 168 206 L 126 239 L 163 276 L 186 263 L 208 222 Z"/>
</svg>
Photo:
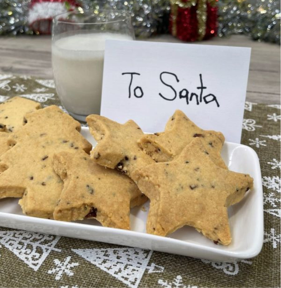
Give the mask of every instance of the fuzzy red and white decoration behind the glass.
<svg viewBox="0 0 281 288">
<path fill-rule="evenodd" d="M 55 15 L 72 11 L 79 6 L 74 0 L 32 0 L 28 11 L 28 23 L 36 34 L 51 34 Z"/>
</svg>

